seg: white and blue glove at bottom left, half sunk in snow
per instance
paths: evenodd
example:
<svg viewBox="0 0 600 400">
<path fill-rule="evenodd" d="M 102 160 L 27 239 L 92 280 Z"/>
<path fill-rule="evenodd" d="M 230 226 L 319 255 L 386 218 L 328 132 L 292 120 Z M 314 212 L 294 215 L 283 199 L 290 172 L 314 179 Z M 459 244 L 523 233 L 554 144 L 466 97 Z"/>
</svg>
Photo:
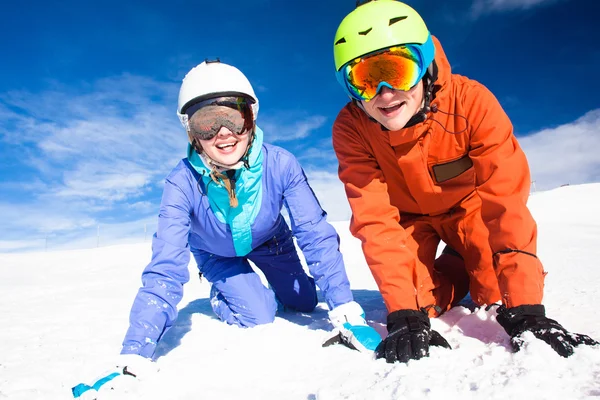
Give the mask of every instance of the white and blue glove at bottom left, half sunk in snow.
<svg viewBox="0 0 600 400">
<path fill-rule="evenodd" d="M 132 393 L 140 381 L 152 379 L 158 365 L 137 354 L 122 354 L 116 365 L 96 378 L 90 385 L 80 383 L 73 387 L 73 397 L 80 400 L 98 400 L 102 394 Z"/>
</svg>

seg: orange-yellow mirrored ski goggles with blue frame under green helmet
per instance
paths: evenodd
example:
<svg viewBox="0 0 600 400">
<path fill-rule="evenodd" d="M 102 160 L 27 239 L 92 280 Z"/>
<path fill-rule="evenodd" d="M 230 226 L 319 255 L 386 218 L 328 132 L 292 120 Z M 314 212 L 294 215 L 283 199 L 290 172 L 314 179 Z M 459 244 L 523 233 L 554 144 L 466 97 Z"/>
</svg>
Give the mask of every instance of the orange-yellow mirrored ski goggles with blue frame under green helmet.
<svg viewBox="0 0 600 400">
<path fill-rule="evenodd" d="M 410 90 L 423 77 L 423 61 L 416 46 L 396 46 L 350 61 L 340 72 L 350 95 L 372 100 L 383 86 Z"/>
</svg>

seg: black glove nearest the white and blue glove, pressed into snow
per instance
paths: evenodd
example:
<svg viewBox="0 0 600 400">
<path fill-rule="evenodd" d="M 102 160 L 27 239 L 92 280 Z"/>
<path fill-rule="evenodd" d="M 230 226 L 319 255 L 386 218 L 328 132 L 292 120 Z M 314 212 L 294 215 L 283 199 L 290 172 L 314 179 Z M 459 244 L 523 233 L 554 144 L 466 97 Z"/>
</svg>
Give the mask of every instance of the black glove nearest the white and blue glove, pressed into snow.
<svg viewBox="0 0 600 400">
<path fill-rule="evenodd" d="M 388 315 L 387 327 L 388 336 L 375 349 L 375 356 L 389 363 L 427 357 L 429 346 L 452 348 L 442 335 L 431 330 L 429 316 L 424 311 L 394 311 Z"/>
</svg>

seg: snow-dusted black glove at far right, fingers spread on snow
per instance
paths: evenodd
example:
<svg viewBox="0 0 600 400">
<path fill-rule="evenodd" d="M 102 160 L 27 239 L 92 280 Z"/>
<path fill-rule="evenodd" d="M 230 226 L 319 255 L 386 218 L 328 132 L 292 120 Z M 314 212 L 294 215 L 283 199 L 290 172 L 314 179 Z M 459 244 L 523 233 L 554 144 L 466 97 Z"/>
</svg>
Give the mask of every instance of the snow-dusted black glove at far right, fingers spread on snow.
<svg viewBox="0 0 600 400">
<path fill-rule="evenodd" d="M 580 344 L 597 345 L 594 339 L 586 335 L 570 333 L 561 324 L 546 317 L 543 305 L 522 305 L 506 308 L 498 307 L 496 320 L 510 336 L 510 343 L 515 351 L 523 345 L 521 334 L 530 331 L 534 336 L 548 343 L 554 351 L 563 357 L 573 354 L 573 347 Z"/>
</svg>

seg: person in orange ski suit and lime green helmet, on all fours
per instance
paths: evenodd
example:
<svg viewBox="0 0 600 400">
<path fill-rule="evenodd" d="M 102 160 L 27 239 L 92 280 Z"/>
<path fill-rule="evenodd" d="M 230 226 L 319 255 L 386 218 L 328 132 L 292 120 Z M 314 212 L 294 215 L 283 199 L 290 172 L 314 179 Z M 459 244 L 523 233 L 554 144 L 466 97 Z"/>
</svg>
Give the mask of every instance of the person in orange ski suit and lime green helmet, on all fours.
<svg viewBox="0 0 600 400">
<path fill-rule="evenodd" d="M 393 68 L 410 66 L 390 60 L 407 44 L 421 61 L 428 54 L 432 60 L 420 66 L 413 86 L 398 89 L 404 77 Z M 526 206 L 529 167 L 494 95 L 452 74 L 440 42 L 397 1 L 358 6 L 338 28 L 334 54 L 338 80 L 352 98 L 333 126 L 350 229 L 390 313 L 377 356 L 405 362 L 427 355 L 429 345 L 450 347 L 430 329 L 429 317 L 469 291 L 478 305 L 502 302 L 498 322 L 515 350 L 526 330 L 565 357 L 573 346 L 595 344 L 585 335 L 570 340 L 545 316 L 546 273 Z M 440 240 L 448 247 L 436 260 Z M 561 334 L 551 336 L 548 328 Z"/>
</svg>

